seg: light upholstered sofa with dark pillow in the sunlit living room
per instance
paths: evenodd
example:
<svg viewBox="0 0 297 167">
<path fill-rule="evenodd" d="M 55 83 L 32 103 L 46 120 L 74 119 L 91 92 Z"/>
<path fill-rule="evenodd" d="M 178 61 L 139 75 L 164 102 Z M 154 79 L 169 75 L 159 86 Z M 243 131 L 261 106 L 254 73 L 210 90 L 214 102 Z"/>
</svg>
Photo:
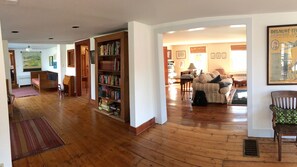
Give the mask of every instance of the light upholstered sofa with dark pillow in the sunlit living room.
<svg viewBox="0 0 297 167">
<path fill-rule="evenodd" d="M 200 74 L 193 79 L 193 97 L 196 91 L 204 91 L 208 103 L 227 103 L 232 89 L 233 80 L 227 75 L 221 75 L 218 71 Z"/>
</svg>

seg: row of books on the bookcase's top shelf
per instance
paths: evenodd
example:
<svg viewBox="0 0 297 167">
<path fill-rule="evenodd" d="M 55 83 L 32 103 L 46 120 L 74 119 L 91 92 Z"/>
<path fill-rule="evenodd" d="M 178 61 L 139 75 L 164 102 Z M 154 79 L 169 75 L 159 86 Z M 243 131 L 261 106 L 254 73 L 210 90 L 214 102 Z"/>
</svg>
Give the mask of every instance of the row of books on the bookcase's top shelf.
<svg viewBox="0 0 297 167">
<path fill-rule="evenodd" d="M 120 41 L 114 41 L 105 45 L 100 45 L 100 56 L 120 55 Z"/>
</svg>

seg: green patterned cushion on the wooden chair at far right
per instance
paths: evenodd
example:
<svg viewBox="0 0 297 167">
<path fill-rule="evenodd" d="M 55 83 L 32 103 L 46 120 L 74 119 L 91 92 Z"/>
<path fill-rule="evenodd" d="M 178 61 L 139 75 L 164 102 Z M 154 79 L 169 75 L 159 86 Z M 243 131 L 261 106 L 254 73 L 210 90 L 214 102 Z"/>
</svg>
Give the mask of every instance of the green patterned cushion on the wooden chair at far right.
<svg viewBox="0 0 297 167">
<path fill-rule="evenodd" d="M 275 123 L 277 124 L 297 124 L 297 110 L 296 109 L 283 109 L 280 107 L 271 107 L 275 111 Z"/>
</svg>

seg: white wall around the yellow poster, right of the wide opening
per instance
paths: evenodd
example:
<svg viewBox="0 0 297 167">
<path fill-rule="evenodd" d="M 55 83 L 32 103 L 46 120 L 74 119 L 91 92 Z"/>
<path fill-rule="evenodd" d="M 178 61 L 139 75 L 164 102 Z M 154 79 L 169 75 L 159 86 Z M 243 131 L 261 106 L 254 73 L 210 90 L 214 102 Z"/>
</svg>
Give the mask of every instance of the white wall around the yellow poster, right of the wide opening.
<svg viewBox="0 0 297 167">
<path fill-rule="evenodd" d="M 259 14 L 253 16 L 252 33 L 252 77 L 253 97 L 252 108 L 249 111 L 249 135 L 272 136 L 272 114 L 268 106 L 271 104 L 270 93 L 274 90 L 297 90 L 296 85 L 267 86 L 267 32 L 269 25 L 296 24 L 297 12 Z"/>
</svg>

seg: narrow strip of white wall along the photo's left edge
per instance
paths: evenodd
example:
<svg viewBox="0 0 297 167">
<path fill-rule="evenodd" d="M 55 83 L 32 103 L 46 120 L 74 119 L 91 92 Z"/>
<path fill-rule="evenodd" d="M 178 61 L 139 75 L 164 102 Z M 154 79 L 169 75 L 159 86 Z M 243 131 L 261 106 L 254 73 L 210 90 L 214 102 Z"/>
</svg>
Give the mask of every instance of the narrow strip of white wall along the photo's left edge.
<svg viewBox="0 0 297 167">
<path fill-rule="evenodd" d="M 5 52 L 8 52 L 6 49 Z M 0 85 L 6 85 L 5 78 L 5 63 L 4 63 L 4 51 L 2 43 L 2 31 L 0 23 Z M 6 86 L 0 86 L 0 164 L 4 166 L 12 166 L 11 162 L 11 150 L 10 150 L 10 135 L 9 135 L 9 119 L 8 119 L 8 105 Z"/>
</svg>

